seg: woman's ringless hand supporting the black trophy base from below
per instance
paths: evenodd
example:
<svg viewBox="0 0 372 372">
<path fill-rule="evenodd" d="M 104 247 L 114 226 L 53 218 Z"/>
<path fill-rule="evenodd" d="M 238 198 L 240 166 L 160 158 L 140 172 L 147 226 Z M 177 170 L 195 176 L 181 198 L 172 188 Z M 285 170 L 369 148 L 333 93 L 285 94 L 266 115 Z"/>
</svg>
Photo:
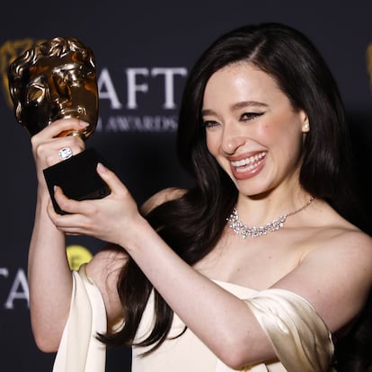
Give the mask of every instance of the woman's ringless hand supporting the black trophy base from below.
<svg viewBox="0 0 372 372">
<path fill-rule="evenodd" d="M 63 190 L 56 187 L 58 206 L 67 214 L 58 215 L 49 204 L 49 217 L 58 230 L 67 235 L 89 235 L 123 246 L 130 234 L 130 226 L 143 218 L 128 189 L 114 173 L 102 164 L 97 164 L 97 173 L 110 187 L 110 195 L 103 199 L 77 201 L 67 199 Z"/>
</svg>

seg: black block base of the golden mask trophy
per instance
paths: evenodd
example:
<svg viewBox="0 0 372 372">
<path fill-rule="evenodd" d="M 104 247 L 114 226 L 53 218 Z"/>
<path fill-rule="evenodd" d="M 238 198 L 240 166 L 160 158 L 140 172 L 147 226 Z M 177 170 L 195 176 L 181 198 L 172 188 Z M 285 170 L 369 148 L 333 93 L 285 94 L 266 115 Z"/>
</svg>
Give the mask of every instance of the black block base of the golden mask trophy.
<svg viewBox="0 0 372 372">
<path fill-rule="evenodd" d="M 103 163 L 102 158 L 90 148 L 44 169 L 50 198 L 58 214 L 64 215 L 66 212 L 58 207 L 54 186 L 59 186 L 67 198 L 75 200 L 102 199 L 110 194 L 111 190 L 96 171 L 99 162 Z"/>
</svg>

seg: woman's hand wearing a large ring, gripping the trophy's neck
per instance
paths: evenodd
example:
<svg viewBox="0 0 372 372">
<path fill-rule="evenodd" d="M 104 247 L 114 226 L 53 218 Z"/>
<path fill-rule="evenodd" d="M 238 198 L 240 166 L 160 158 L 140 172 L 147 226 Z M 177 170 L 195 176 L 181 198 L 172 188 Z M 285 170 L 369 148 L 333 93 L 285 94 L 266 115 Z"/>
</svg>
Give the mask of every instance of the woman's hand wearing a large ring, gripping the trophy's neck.
<svg viewBox="0 0 372 372">
<path fill-rule="evenodd" d="M 61 162 L 59 150 L 69 147 L 73 155 L 84 150 L 84 140 L 79 136 L 58 137 L 61 133 L 75 130 L 81 131 L 88 124 L 77 119 L 56 120 L 48 127 L 31 137 L 32 155 L 35 159 L 38 181 L 45 185 L 42 171 L 53 164 Z"/>
</svg>

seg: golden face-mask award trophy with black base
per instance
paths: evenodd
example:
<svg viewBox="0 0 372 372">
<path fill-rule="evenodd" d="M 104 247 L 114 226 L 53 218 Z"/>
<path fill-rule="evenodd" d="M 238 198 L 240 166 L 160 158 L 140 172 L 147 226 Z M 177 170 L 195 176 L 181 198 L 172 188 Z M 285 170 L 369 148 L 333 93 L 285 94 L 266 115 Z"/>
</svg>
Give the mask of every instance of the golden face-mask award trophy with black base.
<svg viewBox="0 0 372 372">
<path fill-rule="evenodd" d="M 93 134 L 98 118 L 98 89 L 93 52 L 75 38 L 54 38 L 16 58 L 8 70 L 9 91 L 16 120 L 32 137 L 54 120 L 76 118 L 89 125 L 82 131 L 60 133 L 84 140 Z M 59 151 L 62 162 L 44 170 L 53 206 L 54 186 L 70 199 L 101 199 L 110 189 L 96 173 L 102 162 L 93 149 L 73 155 L 69 147 Z"/>
</svg>

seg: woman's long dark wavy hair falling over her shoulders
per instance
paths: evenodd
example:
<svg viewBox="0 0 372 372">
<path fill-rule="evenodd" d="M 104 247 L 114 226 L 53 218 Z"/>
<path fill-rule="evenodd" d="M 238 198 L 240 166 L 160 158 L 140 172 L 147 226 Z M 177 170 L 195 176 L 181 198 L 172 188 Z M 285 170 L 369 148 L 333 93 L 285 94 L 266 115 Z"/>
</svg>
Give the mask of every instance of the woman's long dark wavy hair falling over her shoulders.
<svg viewBox="0 0 372 372">
<path fill-rule="evenodd" d="M 344 107 L 323 57 L 306 36 L 291 27 L 279 23 L 248 25 L 218 38 L 190 70 L 179 114 L 177 149 L 182 166 L 195 184 L 181 198 L 165 202 L 146 216 L 164 241 L 190 265 L 217 244 L 237 199 L 235 185 L 206 146 L 201 118 L 204 90 L 217 70 L 242 61 L 269 74 L 293 108 L 306 111 L 311 130 L 304 144 L 301 186 L 315 198 L 328 201 L 341 216 L 361 225 L 352 191 L 352 154 Z M 153 289 L 129 259 L 118 284 L 126 321 L 120 332 L 102 337 L 106 344 L 133 344 Z M 154 328 L 137 345 L 151 345 L 149 352 L 156 350 L 166 339 L 172 321 L 173 310 L 155 290 Z"/>
</svg>

